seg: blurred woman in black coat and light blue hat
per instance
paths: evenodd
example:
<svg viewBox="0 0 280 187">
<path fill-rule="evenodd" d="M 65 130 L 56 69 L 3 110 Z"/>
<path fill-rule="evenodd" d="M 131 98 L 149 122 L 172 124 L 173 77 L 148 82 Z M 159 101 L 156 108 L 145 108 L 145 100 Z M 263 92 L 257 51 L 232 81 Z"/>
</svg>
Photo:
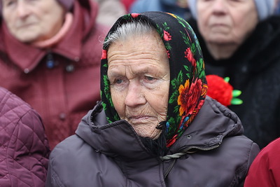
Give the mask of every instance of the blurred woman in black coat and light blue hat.
<svg viewBox="0 0 280 187">
<path fill-rule="evenodd" d="M 261 148 L 280 137 L 280 17 L 274 0 L 189 0 L 206 74 L 230 77 L 243 104 L 229 108 Z"/>
</svg>

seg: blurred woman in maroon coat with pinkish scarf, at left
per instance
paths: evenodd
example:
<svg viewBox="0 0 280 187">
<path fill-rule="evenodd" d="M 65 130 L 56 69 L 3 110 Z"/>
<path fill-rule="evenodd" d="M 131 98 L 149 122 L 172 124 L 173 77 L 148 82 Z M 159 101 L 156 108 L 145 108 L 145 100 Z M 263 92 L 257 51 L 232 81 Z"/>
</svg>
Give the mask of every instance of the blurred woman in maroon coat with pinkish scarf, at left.
<svg viewBox="0 0 280 187">
<path fill-rule="evenodd" d="M 50 148 L 99 100 L 100 42 L 91 0 L 1 0 L 0 86 L 40 113 Z"/>
</svg>

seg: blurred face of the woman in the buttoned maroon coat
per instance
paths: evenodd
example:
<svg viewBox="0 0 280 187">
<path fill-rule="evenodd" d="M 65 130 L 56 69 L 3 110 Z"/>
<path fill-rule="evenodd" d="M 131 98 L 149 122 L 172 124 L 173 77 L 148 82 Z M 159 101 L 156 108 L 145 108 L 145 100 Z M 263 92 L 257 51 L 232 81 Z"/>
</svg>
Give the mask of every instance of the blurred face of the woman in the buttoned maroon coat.
<svg viewBox="0 0 280 187">
<path fill-rule="evenodd" d="M 10 33 L 24 43 L 50 39 L 64 21 L 57 0 L 1 0 L 3 20 Z"/>
</svg>

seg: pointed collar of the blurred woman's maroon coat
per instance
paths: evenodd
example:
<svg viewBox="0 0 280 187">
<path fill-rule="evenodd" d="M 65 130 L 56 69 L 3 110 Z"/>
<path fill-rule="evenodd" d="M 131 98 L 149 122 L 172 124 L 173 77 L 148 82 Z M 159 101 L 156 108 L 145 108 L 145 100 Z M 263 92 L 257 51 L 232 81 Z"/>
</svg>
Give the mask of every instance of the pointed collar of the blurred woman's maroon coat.
<svg viewBox="0 0 280 187">
<path fill-rule="evenodd" d="M 69 32 L 64 36 L 58 45 L 49 49 L 52 53 L 57 53 L 70 60 L 80 59 L 82 39 L 85 37 L 89 28 L 92 28 L 94 21 L 88 22 L 89 19 L 95 20 L 97 15 L 97 4 L 90 2 L 90 13 L 83 11 L 78 1 L 75 1 L 73 8 L 73 24 Z M 48 53 L 48 50 L 29 46 L 15 39 L 9 32 L 2 20 L 1 31 L 3 32 L 3 41 L 5 43 L 6 53 L 10 60 L 16 64 L 22 71 L 32 71 L 42 58 Z"/>
</svg>

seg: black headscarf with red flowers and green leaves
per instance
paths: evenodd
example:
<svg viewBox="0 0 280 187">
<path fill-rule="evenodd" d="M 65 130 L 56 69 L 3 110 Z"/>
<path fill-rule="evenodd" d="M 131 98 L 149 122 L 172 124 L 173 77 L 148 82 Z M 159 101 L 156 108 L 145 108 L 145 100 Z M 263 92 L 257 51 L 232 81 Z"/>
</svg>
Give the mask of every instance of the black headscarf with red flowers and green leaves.
<svg viewBox="0 0 280 187">
<path fill-rule="evenodd" d="M 160 34 L 167 50 L 170 86 L 165 129 L 167 147 L 170 147 L 193 121 L 207 95 L 202 50 L 188 22 L 172 13 L 146 12 L 123 15 L 113 25 L 109 34 L 120 25 L 132 21 L 149 22 Z M 107 50 L 104 46 L 101 64 L 101 96 L 107 120 L 109 123 L 113 123 L 120 120 L 120 117 L 111 99 L 110 83 L 107 76 Z"/>
</svg>

